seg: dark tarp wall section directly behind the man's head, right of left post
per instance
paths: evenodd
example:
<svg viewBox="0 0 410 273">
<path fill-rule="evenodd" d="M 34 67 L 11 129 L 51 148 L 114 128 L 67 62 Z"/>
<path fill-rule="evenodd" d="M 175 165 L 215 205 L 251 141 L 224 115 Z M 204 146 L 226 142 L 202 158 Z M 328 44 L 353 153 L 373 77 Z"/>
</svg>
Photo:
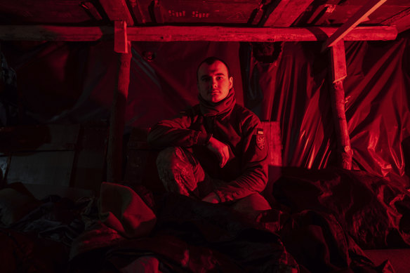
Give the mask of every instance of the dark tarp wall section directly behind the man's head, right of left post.
<svg viewBox="0 0 410 273">
<path fill-rule="evenodd" d="M 238 51 L 238 43 L 133 44 L 127 125 L 152 126 L 197 104 L 197 67 L 209 56 L 223 58 L 230 65 L 237 102 L 243 105 Z M 153 60 L 148 60 L 152 55 Z"/>
</svg>

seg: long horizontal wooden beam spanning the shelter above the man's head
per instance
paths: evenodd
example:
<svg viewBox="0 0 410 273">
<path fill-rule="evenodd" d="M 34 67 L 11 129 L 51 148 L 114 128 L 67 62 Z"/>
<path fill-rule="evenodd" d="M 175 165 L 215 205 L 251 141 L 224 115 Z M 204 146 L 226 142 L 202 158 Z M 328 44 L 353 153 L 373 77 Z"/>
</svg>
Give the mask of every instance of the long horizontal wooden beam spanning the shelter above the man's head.
<svg viewBox="0 0 410 273">
<path fill-rule="evenodd" d="M 324 41 L 335 27 L 127 27 L 128 41 Z M 395 27 L 356 27 L 345 41 L 394 40 Z M 114 40 L 114 27 L 4 26 L 0 41 Z"/>
</svg>

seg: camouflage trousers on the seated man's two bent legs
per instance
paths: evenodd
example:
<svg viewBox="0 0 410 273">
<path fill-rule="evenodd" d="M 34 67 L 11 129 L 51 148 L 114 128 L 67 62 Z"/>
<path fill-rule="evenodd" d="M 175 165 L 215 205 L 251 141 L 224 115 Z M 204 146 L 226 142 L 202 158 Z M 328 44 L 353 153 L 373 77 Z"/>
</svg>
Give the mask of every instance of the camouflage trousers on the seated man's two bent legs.
<svg viewBox="0 0 410 273">
<path fill-rule="evenodd" d="M 225 183 L 211 178 L 194 155 L 183 147 L 168 147 L 162 150 L 157 157 L 157 168 L 159 178 L 167 192 L 175 192 L 195 199 L 206 197 L 218 185 Z M 269 203 L 258 193 L 225 205 L 253 219 L 260 212 L 270 209 Z"/>
</svg>

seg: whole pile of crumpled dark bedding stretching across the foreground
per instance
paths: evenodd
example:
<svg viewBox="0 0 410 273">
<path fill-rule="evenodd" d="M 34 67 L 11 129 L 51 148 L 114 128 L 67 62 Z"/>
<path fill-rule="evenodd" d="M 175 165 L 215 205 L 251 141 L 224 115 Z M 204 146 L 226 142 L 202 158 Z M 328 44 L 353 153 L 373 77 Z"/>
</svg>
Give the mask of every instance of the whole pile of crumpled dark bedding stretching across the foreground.
<svg viewBox="0 0 410 273">
<path fill-rule="evenodd" d="M 363 249 L 409 248 L 409 192 L 359 171 L 284 168 L 256 220 L 138 185 L 37 200 L 0 190 L 1 272 L 395 272 Z"/>
</svg>

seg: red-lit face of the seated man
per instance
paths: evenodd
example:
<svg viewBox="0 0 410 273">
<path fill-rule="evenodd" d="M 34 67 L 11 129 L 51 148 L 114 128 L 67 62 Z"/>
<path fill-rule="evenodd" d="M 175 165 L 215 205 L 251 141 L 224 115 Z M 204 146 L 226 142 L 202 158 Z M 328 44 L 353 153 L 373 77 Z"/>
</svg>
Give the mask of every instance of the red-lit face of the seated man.
<svg viewBox="0 0 410 273">
<path fill-rule="evenodd" d="M 223 100 L 232 88 L 232 76 L 228 77 L 227 67 L 218 60 L 212 65 L 203 63 L 197 76 L 199 94 L 209 102 Z"/>
</svg>

